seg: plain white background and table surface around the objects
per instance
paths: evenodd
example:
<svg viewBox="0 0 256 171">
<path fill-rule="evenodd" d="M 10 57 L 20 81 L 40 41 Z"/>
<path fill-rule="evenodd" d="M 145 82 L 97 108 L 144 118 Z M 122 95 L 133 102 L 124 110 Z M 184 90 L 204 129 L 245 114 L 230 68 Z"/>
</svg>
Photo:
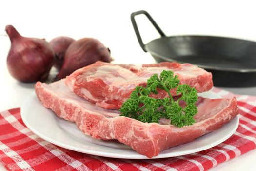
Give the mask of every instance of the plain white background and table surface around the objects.
<svg viewBox="0 0 256 171">
<path fill-rule="evenodd" d="M 0 111 L 20 107 L 34 91 L 34 83 L 13 79 L 6 67 L 10 48 L 5 25 L 12 24 L 21 35 L 45 38 L 57 36 L 74 39 L 93 37 L 111 49 L 115 63 L 154 63 L 150 54 L 138 45 L 130 14 L 147 10 L 166 35 L 201 34 L 236 37 L 256 41 L 254 1 L 170 0 L 166 1 L 13 1 L 0 2 Z M 158 34 L 144 16 L 138 16 L 144 42 Z M 238 94 L 256 95 L 256 87 L 224 88 Z M 254 171 L 256 151 L 218 165 L 211 171 Z M 0 171 L 5 169 L 0 166 Z"/>
</svg>

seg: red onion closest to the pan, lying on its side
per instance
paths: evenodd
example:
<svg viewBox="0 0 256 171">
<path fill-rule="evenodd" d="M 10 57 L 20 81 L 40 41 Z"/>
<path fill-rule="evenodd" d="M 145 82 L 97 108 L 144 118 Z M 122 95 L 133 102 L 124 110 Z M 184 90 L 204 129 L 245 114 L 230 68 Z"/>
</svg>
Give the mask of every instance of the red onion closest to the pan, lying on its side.
<svg viewBox="0 0 256 171">
<path fill-rule="evenodd" d="M 83 38 L 68 47 L 63 66 L 56 77 L 56 80 L 65 78 L 75 70 L 93 64 L 96 61 L 111 62 L 109 48 L 105 47 L 97 39 Z"/>
</svg>

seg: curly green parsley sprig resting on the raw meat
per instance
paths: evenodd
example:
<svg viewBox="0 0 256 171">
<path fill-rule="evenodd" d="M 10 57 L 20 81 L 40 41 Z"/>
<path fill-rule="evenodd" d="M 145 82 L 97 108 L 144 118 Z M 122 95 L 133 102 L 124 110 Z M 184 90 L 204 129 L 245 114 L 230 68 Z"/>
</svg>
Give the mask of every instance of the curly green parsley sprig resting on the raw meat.
<svg viewBox="0 0 256 171">
<path fill-rule="evenodd" d="M 174 100 L 170 90 L 177 88 L 180 97 Z M 158 89 L 165 90 L 169 97 L 155 99 L 149 97 L 151 93 L 158 94 Z M 193 119 L 197 114 L 197 90 L 189 85 L 179 85 L 178 76 L 172 71 L 162 71 L 160 77 L 152 75 L 147 80 L 147 87 L 137 86 L 131 93 L 121 109 L 120 116 L 137 119 L 141 122 L 158 123 L 159 119 L 166 118 L 171 120 L 171 124 L 176 127 L 183 127 L 195 123 Z M 185 105 L 181 106 L 181 101 Z"/>
</svg>

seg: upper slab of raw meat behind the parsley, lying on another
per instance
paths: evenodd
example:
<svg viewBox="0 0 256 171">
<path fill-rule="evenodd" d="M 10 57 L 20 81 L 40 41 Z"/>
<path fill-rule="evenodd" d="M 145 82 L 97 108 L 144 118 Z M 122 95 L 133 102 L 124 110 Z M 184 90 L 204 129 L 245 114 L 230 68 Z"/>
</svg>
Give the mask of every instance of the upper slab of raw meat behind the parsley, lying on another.
<svg viewBox="0 0 256 171">
<path fill-rule="evenodd" d="M 212 74 L 192 64 L 163 62 L 160 64 L 135 65 L 110 64 L 98 61 L 78 69 L 66 78 L 70 90 L 80 97 L 106 109 L 119 109 L 137 85 L 146 86 L 147 79 L 163 70 L 172 70 L 181 84 L 195 87 L 198 92 L 213 87 Z M 171 90 L 176 96 L 176 90 Z M 168 96 L 164 90 L 152 94 L 155 98 Z"/>
</svg>

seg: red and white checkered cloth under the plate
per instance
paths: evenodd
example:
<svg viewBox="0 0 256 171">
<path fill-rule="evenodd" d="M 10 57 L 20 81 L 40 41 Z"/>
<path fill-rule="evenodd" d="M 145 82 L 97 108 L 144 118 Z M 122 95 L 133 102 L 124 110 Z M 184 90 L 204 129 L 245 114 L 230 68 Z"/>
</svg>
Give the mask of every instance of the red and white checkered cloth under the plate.
<svg viewBox="0 0 256 171">
<path fill-rule="evenodd" d="M 10 171 L 203 171 L 256 148 L 256 97 L 213 88 L 223 97 L 236 96 L 240 123 L 225 142 L 197 153 L 151 160 L 87 155 L 55 146 L 31 132 L 20 108 L 0 113 L 0 164 Z"/>
</svg>

